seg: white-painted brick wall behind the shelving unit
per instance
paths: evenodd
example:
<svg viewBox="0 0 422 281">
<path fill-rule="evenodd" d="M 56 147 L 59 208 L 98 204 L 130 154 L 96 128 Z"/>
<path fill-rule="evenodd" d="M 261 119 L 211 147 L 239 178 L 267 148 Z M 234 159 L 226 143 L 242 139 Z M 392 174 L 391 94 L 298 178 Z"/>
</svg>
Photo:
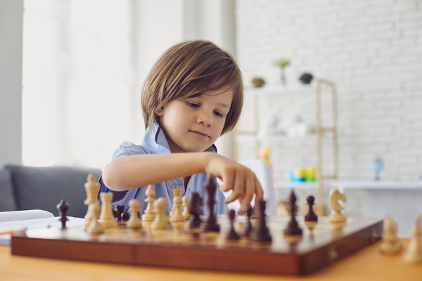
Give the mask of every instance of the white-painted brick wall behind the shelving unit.
<svg viewBox="0 0 422 281">
<path fill-rule="evenodd" d="M 385 162 L 382 178 L 422 178 L 422 1 L 241 0 L 236 29 L 247 83 L 255 76 L 279 83 L 273 60 L 291 60 L 286 95 L 260 103 L 261 117 L 271 106 L 282 115 L 297 104 L 315 123 L 312 89 L 286 97 L 303 87 L 300 74 L 311 72 L 338 89 L 340 178 L 373 178 L 369 162 L 378 155 Z M 251 113 L 243 115 L 247 124 Z M 268 143 L 280 181 L 290 166 L 316 165 L 316 137 Z M 253 147 L 241 143 L 239 158 L 255 157 Z"/>
</svg>

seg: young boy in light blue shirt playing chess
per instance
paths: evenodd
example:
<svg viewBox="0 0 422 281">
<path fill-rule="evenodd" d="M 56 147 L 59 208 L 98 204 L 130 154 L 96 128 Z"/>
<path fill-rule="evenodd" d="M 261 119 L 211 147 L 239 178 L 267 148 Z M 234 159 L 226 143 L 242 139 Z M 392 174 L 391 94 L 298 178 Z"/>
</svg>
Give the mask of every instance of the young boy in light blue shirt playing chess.
<svg viewBox="0 0 422 281">
<path fill-rule="evenodd" d="M 210 41 L 186 41 L 169 48 L 159 58 L 143 86 L 141 105 L 146 134 L 141 145 L 122 143 L 101 176 L 101 192 L 113 190 L 113 205 L 141 202 L 148 184 L 155 198 L 167 199 L 172 209 L 172 189 L 181 196 L 198 192 L 210 176 L 224 184 L 216 194 L 215 214 L 239 200 L 245 214 L 253 195 L 263 191 L 255 174 L 245 166 L 218 155 L 214 142 L 231 131 L 243 105 L 243 81 L 234 58 Z M 233 190 L 224 198 L 222 192 Z M 205 210 L 204 210 L 205 211 Z"/>
</svg>

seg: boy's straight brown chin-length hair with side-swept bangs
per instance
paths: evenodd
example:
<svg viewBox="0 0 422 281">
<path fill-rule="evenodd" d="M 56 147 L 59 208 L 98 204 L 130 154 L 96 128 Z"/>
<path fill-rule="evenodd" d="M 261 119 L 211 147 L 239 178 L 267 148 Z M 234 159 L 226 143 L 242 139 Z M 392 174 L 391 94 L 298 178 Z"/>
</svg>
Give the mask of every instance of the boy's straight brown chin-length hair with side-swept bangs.
<svg viewBox="0 0 422 281">
<path fill-rule="evenodd" d="M 143 84 L 141 107 L 146 127 L 159 123 L 155 112 L 170 100 L 200 96 L 207 91 L 233 90 L 222 131 L 234 129 L 243 107 L 241 70 L 230 53 L 210 41 L 186 41 L 161 55 Z"/>
</svg>

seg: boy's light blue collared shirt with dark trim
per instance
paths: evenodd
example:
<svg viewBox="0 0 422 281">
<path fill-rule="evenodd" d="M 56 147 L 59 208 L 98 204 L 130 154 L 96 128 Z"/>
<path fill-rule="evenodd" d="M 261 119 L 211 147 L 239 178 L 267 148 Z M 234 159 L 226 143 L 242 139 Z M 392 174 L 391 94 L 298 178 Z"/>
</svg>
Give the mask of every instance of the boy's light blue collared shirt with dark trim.
<svg viewBox="0 0 422 281">
<path fill-rule="evenodd" d="M 215 145 L 212 145 L 210 148 L 207 148 L 205 151 L 210 152 L 217 152 L 217 148 Z M 160 128 L 158 124 L 155 124 L 153 131 L 146 129 L 145 136 L 143 137 L 143 141 L 141 145 L 135 145 L 134 143 L 124 142 L 120 145 L 120 148 L 117 148 L 113 153 L 113 159 L 125 157 L 129 155 L 141 155 L 141 154 L 169 154 L 170 147 L 167 143 L 167 139 L 165 138 L 165 134 Z M 142 171 L 139 171 L 142 173 Z M 207 193 L 203 184 L 207 181 L 207 174 L 195 174 L 192 175 L 188 181 L 188 185 L 186 190 L 184 188 L 184 180 L 183 178 L 175 178 L 171 181 L 165 181 L 162 183 L 157 183 L 153 185 L 155 191 L 155 199 L 160 197 L 164 197 L 167 200 L 167 214 L 170 213 L 173 206 L 173 188 L 181 188 L 181 196 L 184 195 L 191 195 L 193 192 L 198 192 L 200 197 L 203 198 L 203 214 L 207 212 L 206 206 L 206 199 Z M 104 185 L 102 178 L 99 179 L 100 182 L 100 190 L 98 191 L 98 196 L 100 192 L 113 192 L 113 207 L 116 205 L 124 205 L 124 211 L 129 209 L 129 201 L 136 198 L 141 203 L 141 207 L 139 211 L 141 214 L 146 209 L 147 203 L 146 200 L 146 186 L 135 188 L 132 190 L 127 190 L 124 192 L 115 192 L 110 190 L 109 188 Z M 227 210 L 227 206 L 224 203 L 224 194 L 222 191 L 217 188 L 216 197 L 215 197 L 215 214 L 225 214 Z"/>
</svg>

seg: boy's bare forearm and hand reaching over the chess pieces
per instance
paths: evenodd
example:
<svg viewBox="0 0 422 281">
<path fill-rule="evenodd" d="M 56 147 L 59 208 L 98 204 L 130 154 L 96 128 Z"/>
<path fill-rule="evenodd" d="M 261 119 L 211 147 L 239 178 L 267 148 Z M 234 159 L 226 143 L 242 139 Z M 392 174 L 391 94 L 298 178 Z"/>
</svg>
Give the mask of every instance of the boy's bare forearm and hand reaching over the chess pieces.
<svg viewBox="0 0 422 281">
<path fill-rule="evenodd" d="M 108 188 L 121 191 L 200 173 L 220 178 L 222 191 L 233 190 L 226 203 L 238 199 L 242 206 L 239 214 L 244 214 L 254 194 L 255 200 L 263 197 L 260 182 L 250 169 L 213 152 L 120 157 L 107 164 L 102 178 Z"/>
</svg>

